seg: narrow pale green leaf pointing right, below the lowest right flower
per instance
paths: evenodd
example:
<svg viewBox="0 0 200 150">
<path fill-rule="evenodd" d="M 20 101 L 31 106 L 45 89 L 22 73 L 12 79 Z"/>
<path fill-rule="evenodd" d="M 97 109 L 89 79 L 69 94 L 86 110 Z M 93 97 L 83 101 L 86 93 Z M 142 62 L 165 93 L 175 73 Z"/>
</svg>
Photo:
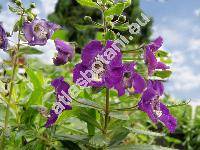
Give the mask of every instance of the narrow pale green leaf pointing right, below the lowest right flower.
<svg viewBox="0 0 200 150">
<path fill-rule="evenodd" d="M 130 127 L 126 127 L 126 129 L 128 129 L 130 132 L 133 132 L 136 134 L 144 134 L 144 135 L 148 135 L 148 136 L 158 136 L 158 137 L 165 136 L 165 134 L 163 134 L 163 133 L 156 133 L 156 132 L 152 132 L 152 131 L 145 131 L 145 130 L 134 129 L 134 128 L 130 128 Z"/>
</svg>

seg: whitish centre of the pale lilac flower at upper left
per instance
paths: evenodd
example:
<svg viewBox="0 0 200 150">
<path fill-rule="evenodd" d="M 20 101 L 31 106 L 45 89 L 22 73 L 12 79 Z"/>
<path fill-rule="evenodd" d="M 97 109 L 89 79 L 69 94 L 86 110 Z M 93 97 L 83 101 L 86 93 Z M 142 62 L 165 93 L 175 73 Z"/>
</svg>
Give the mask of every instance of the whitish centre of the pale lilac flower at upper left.
<svg viewBox="0 0 200 150">
<path fill-rule="evenodd" d="M 42 25 L 40 25 L 39 23 L 34 26 L 34 31 L 35 31 L 35 35 L 39 39 L 47 38 L 48 30 L 45 27 L 43 27 Z"/>
</svg>

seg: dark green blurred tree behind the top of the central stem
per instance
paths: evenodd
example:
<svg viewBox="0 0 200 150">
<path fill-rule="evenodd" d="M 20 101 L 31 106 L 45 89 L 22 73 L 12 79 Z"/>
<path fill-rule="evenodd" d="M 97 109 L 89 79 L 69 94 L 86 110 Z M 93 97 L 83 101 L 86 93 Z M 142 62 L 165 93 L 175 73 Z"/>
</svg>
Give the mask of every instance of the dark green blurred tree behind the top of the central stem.
<svg viewBox="0 0 200 150">
<path fill-rule="evenodd" d="M 127 17 L 129 23 L 133 23 L 140 16 L 141 12 L 140 1 L 132 0 L 132 4 L 125 9 L 123 14 Z M 88 43 L 88 41 L 97 36 L 95 35 L 97 30 L 91 28 L 91 26 L 88 26 L 88 28 L 84 27 L 84 29 L 81 28 L 82 25 L 87 25 L 83 19 L 85 16 L 91 16 L 95 22 L 101 21 L 101 12 L 97 9 L 83 7 L 76 0 L 58 0 L 55 12 L 50 14 L 48 19 L 63 26 L 66 31 L 66 40 L 76 41 L 78 45 L 83 47 L 85 43 Z M 147 26 L 142 27 L 141 35 L 135 36 L 130 45 L 148 43 L 150 41 L 152 23 L 153 19 L 151 19 L 151 22 Z M 127 29 L 121 28 L 119 30 L 122 31 L 123 35 L 129 35 L 127 34 Z"/>
</svg>

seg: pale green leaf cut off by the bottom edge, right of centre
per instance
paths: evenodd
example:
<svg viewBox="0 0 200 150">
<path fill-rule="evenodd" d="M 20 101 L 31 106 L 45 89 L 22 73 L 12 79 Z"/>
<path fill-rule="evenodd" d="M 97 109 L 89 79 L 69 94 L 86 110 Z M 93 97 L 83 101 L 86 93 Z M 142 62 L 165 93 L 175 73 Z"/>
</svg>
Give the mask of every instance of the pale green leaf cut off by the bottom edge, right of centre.
<svg viewBox="0 0 200 150">
<path fill-rule="evenodd" d="M 171 148 L 156 146 L 156 145 L 119 145 L 111 147 L 110 150 L 174 150 Z"/>
</svg>

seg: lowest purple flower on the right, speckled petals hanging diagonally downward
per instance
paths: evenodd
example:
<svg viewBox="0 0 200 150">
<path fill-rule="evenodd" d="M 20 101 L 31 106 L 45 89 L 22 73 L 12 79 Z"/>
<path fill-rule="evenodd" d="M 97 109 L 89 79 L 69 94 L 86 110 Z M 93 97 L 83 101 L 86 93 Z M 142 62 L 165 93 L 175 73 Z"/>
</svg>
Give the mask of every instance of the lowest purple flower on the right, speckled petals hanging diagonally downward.
<svg viewBox="0 0 200 150">
<path fill-rule="evenodd" d="M 164 87 L 160 81 L 149 81 L 148 87 L 138 104 L 139 109 L 146 112 L 150 119 L 157 123 L 163 122 L 170 132 L 174 132 L 177 126 L 176 119 L 170 114 L 167 107 L 160 102 L 159 97 L 164 93 Z"/>
</svg>

